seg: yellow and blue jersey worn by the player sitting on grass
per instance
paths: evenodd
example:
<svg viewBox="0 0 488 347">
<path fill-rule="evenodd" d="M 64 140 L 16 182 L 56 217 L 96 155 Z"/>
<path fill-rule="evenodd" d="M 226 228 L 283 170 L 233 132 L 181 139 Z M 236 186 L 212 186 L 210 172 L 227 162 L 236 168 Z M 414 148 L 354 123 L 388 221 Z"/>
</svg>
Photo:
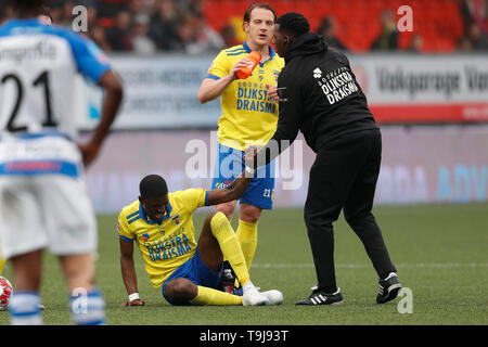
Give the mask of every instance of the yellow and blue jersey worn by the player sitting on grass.
<svg viewBox="0 0 488 347">
<path fill-rule="evenodd" d="M 139 201 L 126 206 L 118 217 L 120 239 L 136 242 L 145 270 L 156 288 L 196 249 L 193 213 L 207 205 L 208 192 L 189 189 L 168 194 L 168 208 L 159 222 L 151 220 Z"/>
</svg>

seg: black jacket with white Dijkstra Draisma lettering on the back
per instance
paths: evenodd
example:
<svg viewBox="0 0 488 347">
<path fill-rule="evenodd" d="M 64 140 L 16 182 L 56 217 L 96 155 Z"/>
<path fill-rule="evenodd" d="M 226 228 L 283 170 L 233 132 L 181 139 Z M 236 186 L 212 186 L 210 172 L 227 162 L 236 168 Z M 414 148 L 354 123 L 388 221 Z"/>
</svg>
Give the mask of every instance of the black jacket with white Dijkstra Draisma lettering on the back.
<svg viewBox="0 0 488 347">
<path fill-rule="evenodd" d="M 367 99 L 349 61 L 342 52 L 328 48 L 321 36 L 299 36 L 285 53 L 285 67 L 278 78 L 280 112 L 277 131 L 259 155 L 273 159 L 296 139 L 298 130 L 318 152 L 329 141 L 346 133 L 377 129 Z M 272 151 L 273 140 L 279 151 Z M 255 158 L 257 164 L 257 156 Z M 262 165 L 261 158 L 259 165 Z"/>
</svg>

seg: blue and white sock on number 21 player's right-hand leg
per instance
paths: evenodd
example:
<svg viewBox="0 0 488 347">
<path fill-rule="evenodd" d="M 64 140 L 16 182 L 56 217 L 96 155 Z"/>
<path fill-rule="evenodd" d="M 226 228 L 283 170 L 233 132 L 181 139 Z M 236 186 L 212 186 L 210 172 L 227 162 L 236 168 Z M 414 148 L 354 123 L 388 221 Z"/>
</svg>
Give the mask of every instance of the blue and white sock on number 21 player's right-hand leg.
<svg viewBox="0 0 488 347">
<path fill-rule="evenodd" d="M 87 293 L 75 291 L 69 296 L 69 309 L 76 325 L 103 325 L 105 320 L 105 300 L 99 288 Z"/>
</svg>

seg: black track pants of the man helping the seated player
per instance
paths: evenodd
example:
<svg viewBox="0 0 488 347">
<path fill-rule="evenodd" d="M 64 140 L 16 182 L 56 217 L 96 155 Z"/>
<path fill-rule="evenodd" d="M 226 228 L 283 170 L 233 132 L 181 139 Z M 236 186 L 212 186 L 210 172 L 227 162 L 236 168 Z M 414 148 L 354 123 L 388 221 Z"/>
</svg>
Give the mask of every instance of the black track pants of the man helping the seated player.
<svg viewBox="0 0 488 347">
<path fill-rule="evenodd" d="M 371 210 L 380 174 L 380 130 L 364 130 L 325 144 L 310 169 L 304 217 L 320 288 L 336 287 L 332 223 L 344 216 L 364 245 L 380 278 L 395 271 Z"/>
</svg>

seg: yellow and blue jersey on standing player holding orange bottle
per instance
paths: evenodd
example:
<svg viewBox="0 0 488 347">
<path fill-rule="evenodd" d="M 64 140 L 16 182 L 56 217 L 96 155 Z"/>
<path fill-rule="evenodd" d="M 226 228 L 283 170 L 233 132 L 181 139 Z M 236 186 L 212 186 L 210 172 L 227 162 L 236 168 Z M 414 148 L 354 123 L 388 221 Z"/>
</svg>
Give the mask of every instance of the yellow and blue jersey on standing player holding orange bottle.
<svg viewBox="0 0 488 347">
<path fill-rule="evenodd" d="M 220 95 L 219 143 L 244 151 L 252 143 L 264 145 L 273 136 L 278 123 L 278 103 L 268 98 L 266 85 L 275 86 L 284 61 L 270 47 L 270 57 L 256 66 L 247 79 L 231 82 Z M 251 53 L 243 44 L 222 50 L 208 69 L 207 78 L 220 79 Z"/>
</svg>

